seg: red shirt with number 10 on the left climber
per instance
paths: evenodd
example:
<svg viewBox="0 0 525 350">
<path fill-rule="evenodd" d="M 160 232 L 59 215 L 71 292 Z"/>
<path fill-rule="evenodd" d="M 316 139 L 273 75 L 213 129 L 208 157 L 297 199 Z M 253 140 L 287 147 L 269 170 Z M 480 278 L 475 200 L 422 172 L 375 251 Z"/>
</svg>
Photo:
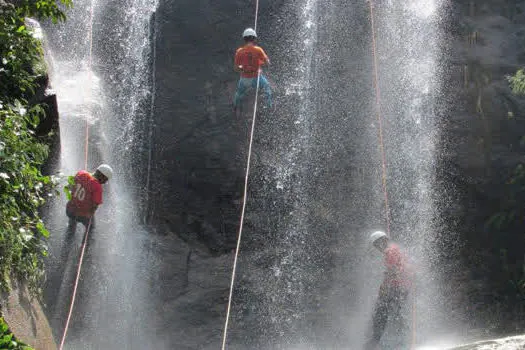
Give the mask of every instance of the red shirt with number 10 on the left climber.
<svg viewBox="0 0 525 350">
<path fill-rule="evenodd" d="M 80 170 L 75 175 L 67 210 L 75 216 L 91 217 L 93 206 L 102 204 L 102 185 L 90 173 Z"/>
</svg>

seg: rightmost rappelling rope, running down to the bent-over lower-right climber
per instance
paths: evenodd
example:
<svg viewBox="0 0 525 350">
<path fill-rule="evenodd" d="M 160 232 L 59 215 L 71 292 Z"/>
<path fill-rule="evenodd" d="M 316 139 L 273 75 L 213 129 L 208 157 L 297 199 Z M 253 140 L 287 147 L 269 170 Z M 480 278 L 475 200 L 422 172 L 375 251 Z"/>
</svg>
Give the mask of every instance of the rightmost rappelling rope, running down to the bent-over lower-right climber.
<svg viewBox="0 0 525 350">
<path fill-rule="evenodd" d="M 385 145 L 383 142 L 383 118 L 381 110 L 381 89 L 379 88 L 379 69 L 377 62 L 377 45 L 376 45 L 376 32 L 375 32 L 375 22 L 374 22 L 374 4 L 373 0 L 368 1 L 370 5 L 370 26 L 372 28 L 372 56 L 374 59 L 374 87 L 376 91 L 376 110 L 377 110 L 377 121 L 379 124 L 379 148 L 381 151 L 381 165 L 382 165 L 382 183 L 383 183 L 383 193 L 385 196 L 385 219 L 386 219 L 386 230 L 389 237 L 390 234 L 390 207 L 388 205 L 388 188 L 386 182 L 386 156 L 385 156 Z M 415 281 L 413 281 L 415 282 Z M 412 283 L 414 286 L 415 283 Z M 412 335 L 410 338 L 410 349 L 415 348 L 416 344 L 416 293 L 415 287 L 412 287 L 412 305 L 411 305 L 411 314 L 412 314 Z"/>
</svg>

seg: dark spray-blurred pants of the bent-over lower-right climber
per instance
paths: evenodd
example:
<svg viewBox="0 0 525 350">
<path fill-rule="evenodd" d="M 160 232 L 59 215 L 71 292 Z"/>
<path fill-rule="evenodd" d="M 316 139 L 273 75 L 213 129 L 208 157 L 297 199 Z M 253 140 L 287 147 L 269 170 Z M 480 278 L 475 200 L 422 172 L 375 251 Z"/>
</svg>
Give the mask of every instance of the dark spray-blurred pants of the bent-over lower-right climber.
<svg viewBox="0 0 525 350">
<path fill-rule="evenodd" d="M 402 333 L 401 336 L 408 336 L 407 301 L 408 291 L 405 288 L 381 288 L 372 317 L 372 337 L 365 349 L 377 348 L 389 321 L 395 323 L 396 331 Z"/>
</svg>

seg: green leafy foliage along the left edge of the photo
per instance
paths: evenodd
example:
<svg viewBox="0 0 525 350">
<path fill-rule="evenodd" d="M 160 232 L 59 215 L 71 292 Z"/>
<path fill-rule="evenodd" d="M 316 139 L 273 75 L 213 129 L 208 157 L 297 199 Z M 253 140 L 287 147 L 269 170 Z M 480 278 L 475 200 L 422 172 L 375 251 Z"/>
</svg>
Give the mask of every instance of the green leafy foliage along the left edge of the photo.
<svg viewBox="0 0 525 350">
<path fill-rule="evenodd" d="M 71 0 L 20 0 L 0 3 L 0 291 L 9 290 L 11 278 L 29 283 L 39 294 L 43 278 L 45 238 L 49 236 L 38 208 L 53 185 L 41 165 L 48 147 L 35 136 L 41 106 L 31 106 L 42 69 L 43 49 L 25 25 L 25 17 L 65 19 L 60 3 Z M 40 67 L 38 67 L 40 66 Z M 35 68 L 36 67 L 36 68 Z M 0 340 L 1 341 L 1 340 Z M 1 347 L 0 347 L 1 348 Z M 18 348 L 17 348 L 18 349 Z"/>
</svg>

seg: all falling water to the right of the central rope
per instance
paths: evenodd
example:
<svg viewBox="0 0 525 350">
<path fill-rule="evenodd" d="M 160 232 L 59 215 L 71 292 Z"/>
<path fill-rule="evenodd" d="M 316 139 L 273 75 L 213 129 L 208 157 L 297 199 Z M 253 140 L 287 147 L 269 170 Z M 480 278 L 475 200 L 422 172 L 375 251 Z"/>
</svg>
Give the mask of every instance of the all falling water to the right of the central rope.
<svg viewBox="0 0 525 350">
<path fill-rule="evenodd" d="M 385 334 L 384 346 L 400 349 L 439 337 L 437 330 L 444 329 L 439 271 L 432 265 L 439 219 L 433 172 L 441 4 L 373 3 L 390 228 L 423 281 L 415 292 L 414 332 Z M 283 46 L 302 49 L 300 58 L 290 51 L 279 58 L 286 67 L 297 62 L 298 68 L 293 74 L 278 72 L 285 101 L 275 115 L 259 121 L 263 142 L 254 152 L 267 170 L 255 171 L 253 177 L 263 181 L 253 181 L 252 191 L 263 193 L 248 204 L 248 213 L 257 213 L 263 206 L 258 202 L 271 202 L 261 216 L 276 210 L 277 217 L 253 220 L 268 230 L 264 235 L 271 247 L 245 236 L 239 266 L 244 276 L 234 295 L 236 314 L 243 317 L 231 324 L 233 336 L 235 330 L 251 334 L 255 328 L 262 339 L 241 336 L 232 344 L 358 349 L 370 330 L 382 279 L 381 256 L 367 251 L 367 237 L 374 229 L 387 229 L 369 3 L 290 6 L 301 11 L 300 34 L 293 36 L 301 42 Z M 294 22 L 291 11 L 283 12 L 281 21 Z M 286 130 L 281 138 L 279 129 Z M 261 274 L 258 264 L 268 270 Z"/>
</svg>

